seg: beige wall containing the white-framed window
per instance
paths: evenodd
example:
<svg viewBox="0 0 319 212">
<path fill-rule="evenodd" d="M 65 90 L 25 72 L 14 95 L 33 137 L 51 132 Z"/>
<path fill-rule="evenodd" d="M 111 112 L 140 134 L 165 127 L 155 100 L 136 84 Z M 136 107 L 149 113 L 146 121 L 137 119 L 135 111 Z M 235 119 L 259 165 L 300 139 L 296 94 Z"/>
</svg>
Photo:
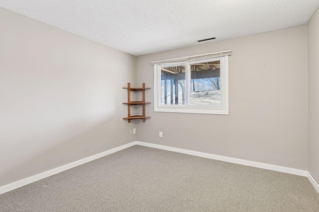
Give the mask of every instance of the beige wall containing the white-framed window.
<svg viewBox="0 0 319 212">
<path fill-rule="evenodd" d="M 151 61 L 232 50 L 229 115 L 154 112 L 152 104 L 137 140 L 307 170 L 306 42 L 299 26 L 138 57 L 137 83 L 153 87 Z"/>
</svg>

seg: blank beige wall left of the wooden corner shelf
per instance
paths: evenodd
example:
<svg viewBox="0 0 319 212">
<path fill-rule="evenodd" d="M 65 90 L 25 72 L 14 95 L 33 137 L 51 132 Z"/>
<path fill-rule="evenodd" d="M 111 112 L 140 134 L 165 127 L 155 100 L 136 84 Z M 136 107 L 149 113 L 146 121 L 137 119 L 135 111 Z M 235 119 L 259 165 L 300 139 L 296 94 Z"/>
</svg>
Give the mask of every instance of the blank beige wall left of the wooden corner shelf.
<svg viewBox="0 0 319 212">
<path fill-rule="evenodd" d="M 135 61 L 0 8 L 0 186 L 136 141 Z"/>
</svg>

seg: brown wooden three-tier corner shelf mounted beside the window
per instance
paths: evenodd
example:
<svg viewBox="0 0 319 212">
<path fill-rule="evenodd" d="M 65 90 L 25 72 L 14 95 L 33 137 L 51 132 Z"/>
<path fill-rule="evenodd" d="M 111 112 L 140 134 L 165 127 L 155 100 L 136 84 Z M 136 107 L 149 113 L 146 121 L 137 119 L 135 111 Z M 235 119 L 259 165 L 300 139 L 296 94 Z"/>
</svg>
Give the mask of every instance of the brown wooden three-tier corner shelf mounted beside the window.
<svg viewBox="0 0 319 212">
<path fill-rule="evenodd" d="M 150 87 L 145 87 L 145 83 L 143 83 L 142 87 L 131 87 L 131 83 L 128 83 L 127 87 L 123 87 L 124 89 L 128 89 L 128 102 L 124 102 L 123 104 L 128 105 L 128 117 L 123 118 L 128 120 L 130 123 L 132 119 L 143 119 L 143 122 L 146 122 L 146 119 L 151 118 L 150 116 L 146 116 L 145 114 L 145 105 L 150 104 L 151 102 L 145 101 L 145 90 L 151 89 Z M 131 91 L 142 91 L 143 100 L 142 101 L 131 101 Z M 143 106 L 143 115 L 142 116 L 131 116 L 131 106 L 132 105 L 142 105 Z"/>
</svg>

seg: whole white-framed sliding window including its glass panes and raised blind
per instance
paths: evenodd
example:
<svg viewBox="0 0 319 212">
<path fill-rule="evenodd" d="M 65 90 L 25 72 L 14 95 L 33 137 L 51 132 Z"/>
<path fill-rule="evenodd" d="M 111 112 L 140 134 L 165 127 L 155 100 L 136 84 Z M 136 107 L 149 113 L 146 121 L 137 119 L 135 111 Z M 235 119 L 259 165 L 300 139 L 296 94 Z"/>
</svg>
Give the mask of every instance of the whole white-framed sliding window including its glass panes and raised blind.
<svg viewBox="0 0 319 212">
<path fill-rule="evenodd" d="M 228 115 L 228 56 L 196 55 L 154 65 L 154 111 Z"/>
</svg>

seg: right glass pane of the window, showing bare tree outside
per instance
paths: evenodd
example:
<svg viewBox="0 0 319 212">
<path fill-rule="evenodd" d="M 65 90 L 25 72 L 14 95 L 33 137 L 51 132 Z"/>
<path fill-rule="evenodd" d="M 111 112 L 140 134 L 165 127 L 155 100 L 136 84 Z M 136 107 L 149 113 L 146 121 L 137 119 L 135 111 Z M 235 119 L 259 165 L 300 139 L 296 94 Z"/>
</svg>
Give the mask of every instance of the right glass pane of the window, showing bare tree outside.
<svg viewBox="0 0 319 212">
<path fill-rule="evenodd" d="M 190 65 L 190 104 L 220 106 L 220 61 Z"/>
</svg>

